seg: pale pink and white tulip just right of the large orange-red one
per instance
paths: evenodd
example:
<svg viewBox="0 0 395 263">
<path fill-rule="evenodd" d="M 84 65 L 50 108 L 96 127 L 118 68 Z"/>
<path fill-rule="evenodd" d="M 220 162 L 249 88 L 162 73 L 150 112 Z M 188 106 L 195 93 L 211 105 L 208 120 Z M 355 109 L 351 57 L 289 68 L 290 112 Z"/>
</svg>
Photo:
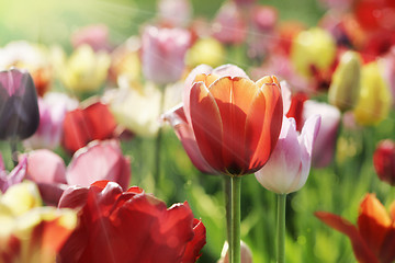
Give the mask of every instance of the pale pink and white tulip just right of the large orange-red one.
<svg viewBox="0 0 395 263">
<path fill-rule="evenodd" d="M 263 187 L 278 194 L 289 194 L 298 191 L 306 183 L 319 125 L 320 116 L 312 116 L 298 134 L 295 121 L 283 118 L 274 151 L 264 167 L 256 172 L 256 178 Z"/>
</svg>

